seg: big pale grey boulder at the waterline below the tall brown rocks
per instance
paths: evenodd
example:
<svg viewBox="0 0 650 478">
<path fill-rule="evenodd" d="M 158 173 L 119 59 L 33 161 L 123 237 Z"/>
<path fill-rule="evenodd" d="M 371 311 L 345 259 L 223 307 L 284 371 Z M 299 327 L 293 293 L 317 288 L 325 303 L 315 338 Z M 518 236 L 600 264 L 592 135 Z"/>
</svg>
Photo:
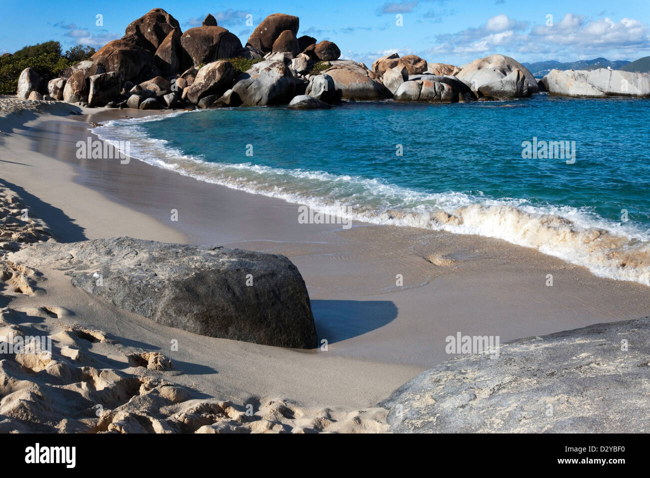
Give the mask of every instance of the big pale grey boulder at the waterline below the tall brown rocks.
<svg viewBox="0 0 650 478">
<path fill-rule="evenodd" d="M 237 77 L 232 90 L 242 104 L 263 106 L 289 103 L 295 95 L 298 81 L 291 73 L 289 60 L 281 58 L 256 63 Z"/>
</svg>

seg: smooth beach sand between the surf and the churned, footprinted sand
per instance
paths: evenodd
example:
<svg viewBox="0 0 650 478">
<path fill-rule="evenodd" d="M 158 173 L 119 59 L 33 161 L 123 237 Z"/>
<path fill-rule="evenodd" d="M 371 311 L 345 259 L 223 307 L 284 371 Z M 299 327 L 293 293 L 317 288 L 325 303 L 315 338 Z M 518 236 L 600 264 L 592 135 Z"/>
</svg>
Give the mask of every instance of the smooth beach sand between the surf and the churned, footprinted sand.
<svg viewBox="0 0 650 478">
<path fill-rule="evenodd" d="M 69 114 L 72 109 L 81 114 Z M 350 230 L 298 224 L 295 204 L 135 159 L 126 165 L 77 159 L 75 143 L 90 135 L 90 122 L 142 113 L 58 103 L 0 116 L 0 186 L 19 194 L 62 242 L 128 235 L 283 254 L 305 279 L 318 337 L 328 341 L 328 350 L 279 349 L 164 328 L 99 304 L 57 271 L 44 272 L 38 284 L 43 293 L 3 291 L 8 300 L 2 307 L 65 310 L 57 317 L 38 314 L 54 332 L 81 327 L 109 334 L 121 345 L 103 353 L 125 367 L 118 352 L 161 352 L 174 363 L 173 382 L 206 396 L 237 406 L 289 399 L 300 414 L 340 410 L 341 423 L 350 418 L 346 410 L 367 408 L 370 418 L 357 429 L 380 431 L 381 413 L 369 407 L 446 360 L 449 335 L 499 336 L 503 342 L 650 314 L 646 286 L 597 278 L 497 239 L 357 223 Z M 177 222 L 170 220 L 172 209 Z M 438 256 L 433 263 L 426 259 L 431 255 Z M 398 274 L 403 285 L 396 285 Z M 170 338 L 182 344 L 178 351 L 170 351 Z"/>
</svg>

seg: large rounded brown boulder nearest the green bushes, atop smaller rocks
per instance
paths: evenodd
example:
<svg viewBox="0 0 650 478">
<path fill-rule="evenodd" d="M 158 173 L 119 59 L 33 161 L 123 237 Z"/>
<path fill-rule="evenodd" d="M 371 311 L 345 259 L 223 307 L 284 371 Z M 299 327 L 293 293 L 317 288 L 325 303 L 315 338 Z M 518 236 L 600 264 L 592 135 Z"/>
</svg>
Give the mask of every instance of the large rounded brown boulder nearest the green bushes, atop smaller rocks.
<svg viewBox="0 0 650 478">
<path fill-rule="evenodd" d="M 163 38 L 164 40 L 164 38 Z M 140 83 L 159 74 L 153 66 L 153 55 L 146 49 L 125 40 L 113 40 L 92 55 L 92 61 L 105 72 L 116 72 L 123 81 Z"/>
</svg>

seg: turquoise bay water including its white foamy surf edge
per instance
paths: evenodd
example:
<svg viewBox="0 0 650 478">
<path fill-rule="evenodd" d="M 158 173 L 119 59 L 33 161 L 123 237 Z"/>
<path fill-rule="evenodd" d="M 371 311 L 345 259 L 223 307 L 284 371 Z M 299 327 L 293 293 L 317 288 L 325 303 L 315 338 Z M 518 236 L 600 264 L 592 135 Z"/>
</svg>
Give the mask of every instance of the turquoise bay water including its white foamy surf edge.
<svg viewBox="0 0 650 478">
<path fill-rule="evenodd" d="M 354 219 L 500 237 L 650 284 L 649 117 L 648 100 L 536 95 L 219 109 L 94 132 L 131 140 L 134 157 L 204 181 L 323 211 L 350 207 Z M 575 142 L 575 163 L 523 157 L 522 143 L 534 137 Z"/>
</svg>

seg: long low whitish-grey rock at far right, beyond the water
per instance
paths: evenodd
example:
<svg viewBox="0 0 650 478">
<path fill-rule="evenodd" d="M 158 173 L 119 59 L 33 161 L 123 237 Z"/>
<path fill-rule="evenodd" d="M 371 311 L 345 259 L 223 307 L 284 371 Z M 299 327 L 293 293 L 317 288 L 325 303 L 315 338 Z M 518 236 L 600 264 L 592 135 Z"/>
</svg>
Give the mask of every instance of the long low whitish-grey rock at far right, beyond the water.
<svg viewBox="0 0 650 478">
<path fill-rule="evenodd" d="M 603 98 L 604 96 L 650 96 L 650 74 L 620 70 L 551 70 L 541 79 L 549 94 Z"/>
</svg>

